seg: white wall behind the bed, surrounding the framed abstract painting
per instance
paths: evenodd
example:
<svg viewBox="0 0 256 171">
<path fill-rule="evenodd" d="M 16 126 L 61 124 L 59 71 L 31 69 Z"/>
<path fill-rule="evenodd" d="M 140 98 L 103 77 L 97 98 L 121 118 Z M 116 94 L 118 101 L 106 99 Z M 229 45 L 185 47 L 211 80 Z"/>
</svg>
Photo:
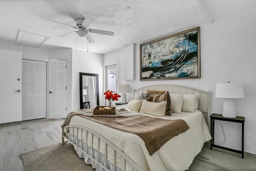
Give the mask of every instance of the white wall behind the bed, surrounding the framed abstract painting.
<svg viewBox="0 0 256 171">
<path fill-rule="evenodd" d="M 153 84 L 178 84 L 210 90 L 211 113 L 222 113 L 223 99 L 215 98 L 216 83 L 256 85 L 256 9 L 212 24 L 200 25 L 201 78 L 167 81 L 140 81 L 140 43 L 136 44 L 136 79 L 123 79 L 122 49 L 104 55 L 104 61 L 119 58 L 119 84 L 130 84 L 131 90 Z M 256 153 L 256 87 L 244 88 L 244 99 L 236 99 L 237 116 L 245 117 L 244 149 Z M 127 100 L 133 93 L 127 94 Z M 241 149 L 241 124 L 222 121 L 226 143 L 223 146 Z M 215 142 L 224 142 L 220 122 L 216 121 Z"/>
</svg>

